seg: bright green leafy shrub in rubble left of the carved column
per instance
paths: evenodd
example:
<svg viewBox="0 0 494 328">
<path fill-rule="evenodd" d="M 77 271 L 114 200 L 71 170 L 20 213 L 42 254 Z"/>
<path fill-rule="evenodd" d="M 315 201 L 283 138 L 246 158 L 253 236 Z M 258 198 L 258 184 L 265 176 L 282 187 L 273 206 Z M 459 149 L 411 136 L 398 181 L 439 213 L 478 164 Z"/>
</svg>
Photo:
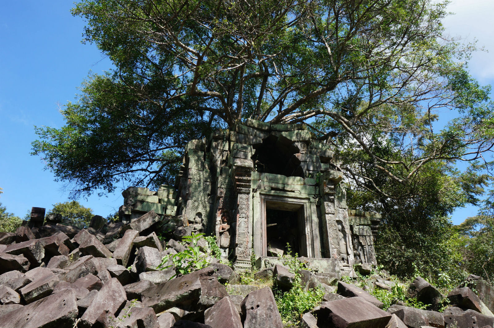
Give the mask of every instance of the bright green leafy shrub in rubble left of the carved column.
<svg viewBox="0 0 494 328">
<path fill-rule="evenodd" d="M 207 256 L 205 253 L 199 250 L 197 246 L 198 241 L 204 236 L 203 233 L 192 233 L 191 236 L 182 237 L 182 242 L 190 244 L 187 248 L 176 254 L 169 254 L 163 257 L 161 264 L 158 266 L 160 270 L 166 270 L 174 268 L 175 275 L 170 279 L 175 278 L 178 275 L 186 275 L 193 271 L 201 270 L 209 265 Z M 171 260 L 172 264 L 168 264 Z"/>
</svg>

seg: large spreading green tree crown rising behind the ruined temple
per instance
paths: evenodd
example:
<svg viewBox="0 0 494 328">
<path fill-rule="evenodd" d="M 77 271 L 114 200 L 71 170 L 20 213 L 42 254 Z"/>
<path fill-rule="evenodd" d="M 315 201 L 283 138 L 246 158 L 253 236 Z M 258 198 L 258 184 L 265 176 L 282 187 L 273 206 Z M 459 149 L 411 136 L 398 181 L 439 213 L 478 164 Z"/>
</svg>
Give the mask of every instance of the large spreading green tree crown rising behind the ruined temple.
<svg viewBox="0 0 494 328">
<path fill-rule="evenodd" d="M 468 75 L 473 45 L 448 38 L 432 0 L 82 0 L 84 41 L 113 62 L 40 127 L 33 154 L 75 195 L 124 180 L 169 182 L 185 143 L 253 118 L 296 123 L 360 149 L 342 163 L 360 188 L 405 194 L 430 163 L 485 159 L 488 87 Z M 442 111 L 449 119 L 438 122 Z M 334 142 L 335 136 L 345 138 Z M 389 142 L 390 151 L 379 151 Z M 489 160 L 486 160 L 489 162 Z"/>
</svg>

